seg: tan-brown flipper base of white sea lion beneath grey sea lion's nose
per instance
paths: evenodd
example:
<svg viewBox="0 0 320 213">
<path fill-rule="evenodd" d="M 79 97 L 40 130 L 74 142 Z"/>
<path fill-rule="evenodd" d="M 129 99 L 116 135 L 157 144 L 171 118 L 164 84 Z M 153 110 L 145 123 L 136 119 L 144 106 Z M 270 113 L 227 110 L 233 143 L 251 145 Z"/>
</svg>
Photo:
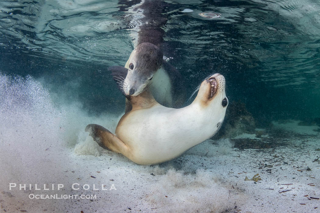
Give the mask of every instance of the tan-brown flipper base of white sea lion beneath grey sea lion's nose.
<svg viewBox="0 0 320 213">
<path fill-rule="evenodd" d="M 159 104 L 158 102 L 156 102 L 149 89 L 145 90 L 137 96 L 128 96 L 127 98 L 132 104 L 132 111 L 138 109 L 147 109 L 156 104 Z"/>
</svg>

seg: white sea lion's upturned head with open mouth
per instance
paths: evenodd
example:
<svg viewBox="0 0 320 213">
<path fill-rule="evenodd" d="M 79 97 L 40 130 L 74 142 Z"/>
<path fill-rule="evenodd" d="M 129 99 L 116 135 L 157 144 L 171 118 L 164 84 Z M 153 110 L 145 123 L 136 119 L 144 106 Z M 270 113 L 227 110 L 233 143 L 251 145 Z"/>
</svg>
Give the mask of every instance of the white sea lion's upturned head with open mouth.
<svg viewBox="0 0 320 213">
<path fill-rule="evenodd" d="M 226 80 L 223 75 L 216 73 L 205 79 L 199 88 L 198 95 L 195 102 L 199 103 L 201 107 L 208 109 L 209 116 L 217 120 L 217 127 L 220 128 L 226 109 L 228 106 L 228 98 L 226 97 Z"/>
</svg>

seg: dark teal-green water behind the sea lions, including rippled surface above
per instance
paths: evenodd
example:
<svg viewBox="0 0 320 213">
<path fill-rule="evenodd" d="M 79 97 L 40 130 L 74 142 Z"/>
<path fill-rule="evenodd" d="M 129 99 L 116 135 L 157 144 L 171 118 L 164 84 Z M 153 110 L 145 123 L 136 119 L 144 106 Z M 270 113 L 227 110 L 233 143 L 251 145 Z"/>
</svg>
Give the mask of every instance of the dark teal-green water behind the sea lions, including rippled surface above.
<svg viewBox="0 0 320 213">
<path fill-rule="evenodd" d="M 120 113 L 107 67 L 123 66 L 133 49 L 139 2 L 1 1 L 0 72 L 40 80 L 57 102 Z M 223 74 L 230 105 L 244 103 L 258 126 L 312 120 L 320 117 L 319 8 L 311 0 L 167 1 L 164 56 L 190 95 L 204 77 Z"/>
</svg>

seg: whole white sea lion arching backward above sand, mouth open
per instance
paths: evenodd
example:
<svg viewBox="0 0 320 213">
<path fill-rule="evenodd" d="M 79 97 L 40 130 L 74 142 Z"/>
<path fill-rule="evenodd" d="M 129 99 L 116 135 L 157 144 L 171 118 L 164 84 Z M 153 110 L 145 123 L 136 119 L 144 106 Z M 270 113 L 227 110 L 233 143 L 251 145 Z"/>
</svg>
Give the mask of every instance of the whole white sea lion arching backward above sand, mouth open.
<svg viewBox="0 0 320 213">
<path fill-rule="evenodd" d="M 204 80 L 196 99 L 181 109 L 160 105 L 149 89 L 126 97 L 132 110 L 120 119 L 115 135 L 97 124 L 89 124 L 85 131 L 102 148 L 143 165 L 176 158 L 210 138 L 220 129 L 228 106 L 220 74 Z"/>
</svg>

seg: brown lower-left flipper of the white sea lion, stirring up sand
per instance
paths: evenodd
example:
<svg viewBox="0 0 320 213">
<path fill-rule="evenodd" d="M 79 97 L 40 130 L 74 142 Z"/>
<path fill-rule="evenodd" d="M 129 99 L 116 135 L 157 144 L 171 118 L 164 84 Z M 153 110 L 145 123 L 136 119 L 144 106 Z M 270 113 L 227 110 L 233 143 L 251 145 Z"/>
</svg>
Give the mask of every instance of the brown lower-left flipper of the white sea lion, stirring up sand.
<svg viewBox="0 0 320 213">
<path fill-rule="evenodd" d="M 93 141 L 96 141 L 104 149 L 121 154 L 128 151 L 128 146 L 103 126 L 89 124 L 85 127 L 85 131 L 89 132 Z"/>
</svg>

